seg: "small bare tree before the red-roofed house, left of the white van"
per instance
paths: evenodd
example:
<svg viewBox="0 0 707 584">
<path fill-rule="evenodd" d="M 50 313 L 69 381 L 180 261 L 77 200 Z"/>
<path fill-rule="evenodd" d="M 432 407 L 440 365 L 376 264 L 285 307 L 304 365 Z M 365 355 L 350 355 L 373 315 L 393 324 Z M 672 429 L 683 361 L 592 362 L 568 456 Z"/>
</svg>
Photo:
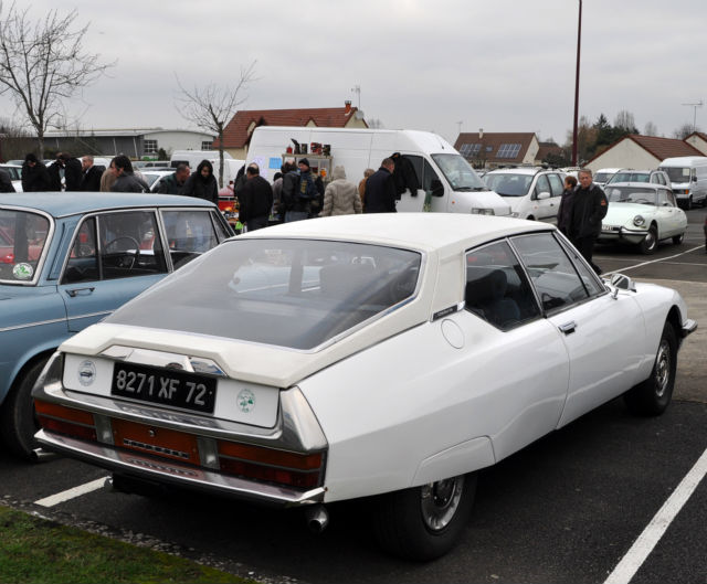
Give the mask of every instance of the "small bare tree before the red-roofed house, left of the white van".
<svg viewBox="0 0 707 584">
<path fill-rule="evenodd" d="M 223 187 L 223 130 L 235 115 L 238 107 L 245 102 L 241 92 L 255 81 L 255 61 L 247 67 L 241 67 L 241 77 L 235 86 L 221 86 L 210 83 L 204 87 L 186 89 L 177 77 L 179 95 L 178 112 L 197 127 L 211 131 L 219 137 L 219 187 Z"/>
</svg>

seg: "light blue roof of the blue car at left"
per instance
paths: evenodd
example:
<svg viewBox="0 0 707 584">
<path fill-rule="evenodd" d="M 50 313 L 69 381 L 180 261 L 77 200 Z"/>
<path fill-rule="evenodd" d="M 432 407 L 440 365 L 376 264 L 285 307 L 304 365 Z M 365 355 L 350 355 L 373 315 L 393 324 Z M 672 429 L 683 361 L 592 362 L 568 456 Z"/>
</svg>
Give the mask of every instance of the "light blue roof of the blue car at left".
<svg viewBox="0 0 707 584">
<path fill-rule="evenodd" d="M 0 208 L 34 209 L 54 217 L 136 206 L 207 206 L 213 203 L 196 197 L 124 192 L 24 192 L 3 193 Z"/>
</svg>

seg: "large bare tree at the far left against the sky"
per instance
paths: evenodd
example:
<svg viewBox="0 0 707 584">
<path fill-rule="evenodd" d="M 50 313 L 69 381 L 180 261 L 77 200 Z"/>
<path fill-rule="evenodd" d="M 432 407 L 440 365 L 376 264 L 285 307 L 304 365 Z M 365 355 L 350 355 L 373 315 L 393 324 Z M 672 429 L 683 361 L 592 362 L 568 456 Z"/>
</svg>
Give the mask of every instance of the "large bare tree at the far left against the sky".
<svg viewBox="0 0 707 584">
<path fill-rule="evenodd" d="M 76 29 L 76 11 L 62 17 L 50 10 L 43 20 L 29 18 L 30 8 L 0 0 L 0 95 L 9 94 L 36 131 L 40 158 L 44 132 L 63 116 L 63 102 L 80 93 L 114 63 L 83 50 L 88 24 Z"/>
</svg>

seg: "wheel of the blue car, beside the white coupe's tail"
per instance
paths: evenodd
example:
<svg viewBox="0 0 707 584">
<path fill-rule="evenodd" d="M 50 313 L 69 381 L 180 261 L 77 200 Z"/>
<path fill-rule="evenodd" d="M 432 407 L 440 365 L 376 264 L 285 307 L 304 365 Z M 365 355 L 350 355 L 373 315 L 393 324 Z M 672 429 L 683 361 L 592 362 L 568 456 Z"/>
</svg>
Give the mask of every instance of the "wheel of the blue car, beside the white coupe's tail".
<svg viewBox="0 0 707 584">
<path fill-rule="evenodd" d="M 45 364 L 46 358 L 40 359 L 15 381 L 0 411 L 0 432 L 4 445 L 11 454 L 28 460 L 38 447 L 34 434 L 40 429 L 32 387 Z"/>
</svg>

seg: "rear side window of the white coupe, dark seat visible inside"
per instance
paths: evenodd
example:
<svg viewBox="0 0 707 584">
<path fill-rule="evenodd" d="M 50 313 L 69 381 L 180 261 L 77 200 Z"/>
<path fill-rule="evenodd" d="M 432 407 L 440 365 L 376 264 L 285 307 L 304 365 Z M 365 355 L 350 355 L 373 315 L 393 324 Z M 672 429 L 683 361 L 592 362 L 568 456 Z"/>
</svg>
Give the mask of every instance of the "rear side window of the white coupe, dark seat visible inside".
<svg viewBox="0 0 707 584">
<path fill-rule="evenodd" d="M 465 308 L 502 330 L 540 316 L 518 258 L 508 242 L 498 242 L 466 254 Z"/>
</svg>

